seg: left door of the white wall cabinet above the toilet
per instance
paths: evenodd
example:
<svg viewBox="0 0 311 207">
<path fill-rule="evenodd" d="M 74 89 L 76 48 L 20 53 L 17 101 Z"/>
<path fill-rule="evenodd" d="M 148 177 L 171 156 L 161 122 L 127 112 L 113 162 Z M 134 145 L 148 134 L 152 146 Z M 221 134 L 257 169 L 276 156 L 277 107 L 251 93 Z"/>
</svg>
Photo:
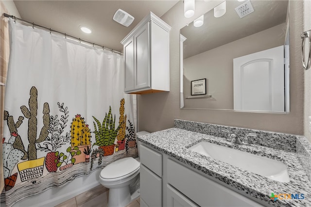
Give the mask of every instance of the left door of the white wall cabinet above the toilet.
<svg viewBox="0 0 311 207">
<path fill-rule="evenodd" d="M 134 90 L 134 38 L 124 45 L 124 91 Z"/>
</svg>

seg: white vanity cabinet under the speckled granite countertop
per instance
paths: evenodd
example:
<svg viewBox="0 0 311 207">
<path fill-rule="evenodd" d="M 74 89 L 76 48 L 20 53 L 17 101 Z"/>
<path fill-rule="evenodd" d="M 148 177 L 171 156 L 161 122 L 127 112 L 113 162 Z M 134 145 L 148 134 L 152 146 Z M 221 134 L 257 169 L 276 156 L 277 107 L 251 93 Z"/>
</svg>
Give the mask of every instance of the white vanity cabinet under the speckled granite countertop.
<svg viewBox="0 0 311 207">
<path fill-rule="evenodd" d="M 140 144 L 140 206 L 263 207 L 166 154 Z"/>
</svg>

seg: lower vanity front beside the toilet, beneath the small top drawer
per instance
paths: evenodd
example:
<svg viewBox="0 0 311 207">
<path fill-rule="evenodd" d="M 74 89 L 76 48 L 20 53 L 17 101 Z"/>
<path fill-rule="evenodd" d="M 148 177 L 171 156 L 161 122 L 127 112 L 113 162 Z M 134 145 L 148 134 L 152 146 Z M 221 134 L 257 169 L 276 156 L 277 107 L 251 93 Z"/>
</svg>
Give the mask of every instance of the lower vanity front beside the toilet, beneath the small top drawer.
<svg viewBox="0 0 311 207">
<path fill-rule="evenodd" d="M 162 206 L 162 178 L 140 164 L 140 198 L 149 207 Z"/>
</svg>

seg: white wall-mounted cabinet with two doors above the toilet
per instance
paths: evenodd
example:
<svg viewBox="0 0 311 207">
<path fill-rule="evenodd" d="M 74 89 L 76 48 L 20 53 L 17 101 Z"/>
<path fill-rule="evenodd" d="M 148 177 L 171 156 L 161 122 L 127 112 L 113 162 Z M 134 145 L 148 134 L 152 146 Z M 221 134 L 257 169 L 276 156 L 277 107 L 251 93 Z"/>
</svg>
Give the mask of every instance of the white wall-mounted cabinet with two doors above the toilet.
<svg viewBox="0 0 311 207">
<path fill-rule="evenodd" d="M 171 27 L 152 12 L 121 41 L 124 51 L 124 92 L 170 91 Z"/>
</svg>

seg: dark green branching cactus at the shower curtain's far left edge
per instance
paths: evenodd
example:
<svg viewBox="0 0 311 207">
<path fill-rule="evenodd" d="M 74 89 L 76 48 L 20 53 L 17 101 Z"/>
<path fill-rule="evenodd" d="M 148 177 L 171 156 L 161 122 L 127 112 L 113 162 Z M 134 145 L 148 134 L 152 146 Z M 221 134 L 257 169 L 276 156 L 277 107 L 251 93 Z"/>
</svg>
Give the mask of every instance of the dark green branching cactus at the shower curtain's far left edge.
<svg viewBox="0 0 311 207">
<path fill-rule="evenodd" d="M 13 116 L 10 116 L 8 111 L 4 111 L 3 115 L 4 115 L 4 120 L 7 121 L 10 134 L 18 133 L 17 128 L 20 127 L 20 125 L 23 123 L 24 117 L 19 116 L 18 121 L 15 123 Z M 21 159 L 23 160 L 27 159 L 27 152 L 25 151 L 23 147 L 19 147 L 19 146 L 23 146 L 23 142 L 21 141 L 19 134 L 17 134 L 17 137 L 15 138 L 15 142 L 12 144 L 12 146 L 14 149 L 18 149 L 23 152 L 24 156 Z"/>
</svg>

